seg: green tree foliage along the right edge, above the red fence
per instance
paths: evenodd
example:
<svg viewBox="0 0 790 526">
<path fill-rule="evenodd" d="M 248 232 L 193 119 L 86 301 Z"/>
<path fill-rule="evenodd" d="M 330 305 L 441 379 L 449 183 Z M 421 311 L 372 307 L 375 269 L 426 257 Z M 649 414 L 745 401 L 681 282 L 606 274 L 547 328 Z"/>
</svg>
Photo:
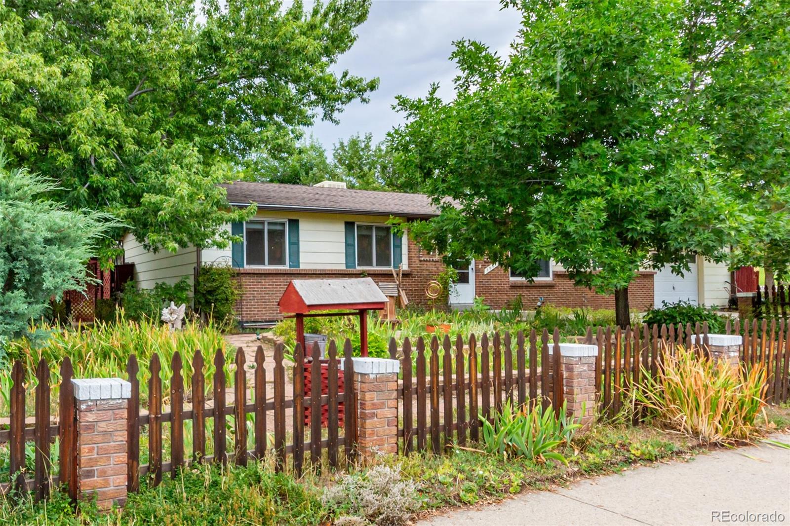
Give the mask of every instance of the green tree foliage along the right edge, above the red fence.
<svg viewBox="0 0 790 526">
<path fill-rule="evenodd" d="M 735 263 L 790 270 L 790 4 L 683 3 L 690 118 L 713 139 L 710 156 L 743 202 Z"/>
</svg>

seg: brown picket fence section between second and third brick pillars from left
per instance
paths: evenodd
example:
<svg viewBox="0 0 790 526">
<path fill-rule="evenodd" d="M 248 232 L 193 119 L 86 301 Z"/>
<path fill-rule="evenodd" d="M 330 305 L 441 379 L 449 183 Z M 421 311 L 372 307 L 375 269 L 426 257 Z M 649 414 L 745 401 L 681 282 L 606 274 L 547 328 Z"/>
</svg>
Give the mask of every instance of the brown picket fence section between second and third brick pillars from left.
<svg viewBox="0 0 790 526">
<path fill-rule="evenodd" d="M 425 451 L 429 446 L 434 453 L 441 453 L 442 445 L 463 446 L 467 443 L 467 431 L 469 438 L 477 441 L 480 418 L 491 421 L 505 401 L 514 405 L 540 403 L 544 408 L 551 404 L 559 411 L 563 396 L 559 330 L 555 330 L 552 341 L 549 355 L 545 330 L 540 341 L 533 330 L 529 344 L 524 333 L 519 332 L 515 353 L 510 333 L 494 333 L 491 338 L 483 334 L 479 344 L 473 334 L 467 340 L 458 335 L 454 347 L 450 336 L 445 335 L 442 344 L 433 336 L 429 349 L 422 337 L 416 340 L 414 349 L 408 338 L 401 349 L 395 340 L 390 340 L 390 358 L 401 359 L 403 371 L 398 393 L 398 437 L 404 453 Z"/>
</svg>

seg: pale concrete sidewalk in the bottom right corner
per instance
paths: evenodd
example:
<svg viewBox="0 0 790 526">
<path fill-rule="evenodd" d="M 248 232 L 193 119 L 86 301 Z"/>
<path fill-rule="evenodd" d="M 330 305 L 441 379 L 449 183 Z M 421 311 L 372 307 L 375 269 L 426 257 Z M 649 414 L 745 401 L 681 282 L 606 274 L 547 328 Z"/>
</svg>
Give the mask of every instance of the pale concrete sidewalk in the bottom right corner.
<svg viewBox="0 0 790 526">
<path fill-rule="evenodd" d="M 771 438 L 790 443 L 790 434 Z M 744 513 L 784 517 L 736 517 Z M 657 464 L 569 488 L 532 491 L 420 524 L 790 524 L 790 450 L 769 445 L 719 450 L 688 463 Z"/>
</svg>

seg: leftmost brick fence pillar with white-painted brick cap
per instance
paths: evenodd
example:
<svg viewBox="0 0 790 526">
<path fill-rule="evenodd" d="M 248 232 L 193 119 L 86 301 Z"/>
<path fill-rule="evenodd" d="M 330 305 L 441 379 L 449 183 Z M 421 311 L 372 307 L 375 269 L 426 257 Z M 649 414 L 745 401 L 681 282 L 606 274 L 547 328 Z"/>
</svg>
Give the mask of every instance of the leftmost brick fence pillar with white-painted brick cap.
<svg viewBox="0 0 790 526">
<path fill-rule="evenodd" d="M 100 509 L 126 502 L 126 404 L 120 378 L 72 380 L 77 406 L 77 494 Z"/>
</svg>

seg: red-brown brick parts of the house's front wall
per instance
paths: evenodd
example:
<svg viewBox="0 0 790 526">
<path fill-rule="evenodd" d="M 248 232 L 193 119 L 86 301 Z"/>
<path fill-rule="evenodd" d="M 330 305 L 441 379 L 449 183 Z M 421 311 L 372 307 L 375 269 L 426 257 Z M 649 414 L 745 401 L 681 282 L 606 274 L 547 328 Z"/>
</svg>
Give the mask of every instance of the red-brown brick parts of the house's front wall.
<svg viewBox="0 0 790 526">
<path fill-rule="evenodd" d="M 510 280 L 506 269 L 497 268 L 485 274 L 490 261 L 475 262 L 476 295 L 483 296 L 492 309 L 502 309 L 508 301 L 521 295 L 525 309 L 534 309 L 538 300 L 555 306 L 613 309 L 612 295 L 598 295 L 594 290 L 576 287 L 567 273 L 554 272 L 551 281 Z M 427 254 L 412 239 L 408 240 L 408 270 L 403 272 L 403 288 L 410 304 L 427 307 L 425 287 L 435 280 L 444 265 L 438 256 Z M 640 272 L 629 288 L 631 308 L 646 310 L 653 306 L 653 275 Z M 243 321 L 271 321 L 280 319 L 277 301 L 291 280 L 342 279 L 370 276 L 374 281 L 393 282 L 390 269 L 239 269 L 243 287 L 242 299 L 236 313 Z"/>
</svg>

